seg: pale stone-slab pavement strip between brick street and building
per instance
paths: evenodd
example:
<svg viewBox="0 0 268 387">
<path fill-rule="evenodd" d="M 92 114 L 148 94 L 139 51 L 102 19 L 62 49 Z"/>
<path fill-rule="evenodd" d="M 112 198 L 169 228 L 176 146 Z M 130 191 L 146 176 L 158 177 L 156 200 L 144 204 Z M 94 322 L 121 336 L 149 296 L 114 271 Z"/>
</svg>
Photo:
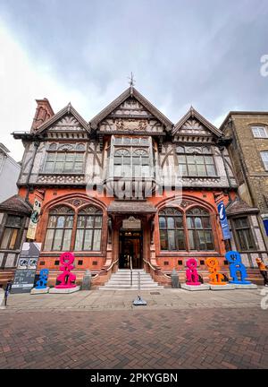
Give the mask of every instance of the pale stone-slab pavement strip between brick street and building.
<svg viewBox="0 0 268 387">
<path fill-rule="evenodd" d="M 261 289 L 235 289 L 232 291 L 189 292 L 184 289 L 163 288 L 142 291 L 141 296 L 147 301 L 147 308 L 180 309 L 197 307 L 247 307 L 260 305 Z M 133 309 L 132 302 L 137 293 L 132 290 L 80 290 L 73 294 L 13 294 L 8 298 L 8 311 L 29 309 Z M 142 307 L 142 306 L 140 306 Z"/>
</svg>

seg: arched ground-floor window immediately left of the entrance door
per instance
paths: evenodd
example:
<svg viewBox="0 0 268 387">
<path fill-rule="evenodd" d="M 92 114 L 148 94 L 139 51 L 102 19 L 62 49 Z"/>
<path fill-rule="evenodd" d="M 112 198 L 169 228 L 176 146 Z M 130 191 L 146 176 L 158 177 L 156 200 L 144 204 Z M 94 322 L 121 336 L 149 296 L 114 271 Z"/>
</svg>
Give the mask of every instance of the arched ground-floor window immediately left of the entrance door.
<svg viewBox="0 0 268 387">
<path fill-rule="evenodd" d="M 103 212 L 88 206 L 78 213 L 75 251 L 99 251 L 103 225 Z"/>
</svg>

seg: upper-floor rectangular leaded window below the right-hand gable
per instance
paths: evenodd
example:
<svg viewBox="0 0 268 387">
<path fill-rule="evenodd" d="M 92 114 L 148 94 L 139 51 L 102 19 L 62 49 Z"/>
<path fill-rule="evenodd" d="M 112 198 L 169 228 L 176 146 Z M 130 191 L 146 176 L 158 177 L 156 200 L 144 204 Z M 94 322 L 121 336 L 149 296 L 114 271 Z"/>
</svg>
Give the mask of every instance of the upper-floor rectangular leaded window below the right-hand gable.
<svg viewBox="0 0 268 387">
<path fill-rule="evenodd" d="M 180 176 L 216 176 L 214 157 L 207 147 L 177 148 Z"/>
</svg>

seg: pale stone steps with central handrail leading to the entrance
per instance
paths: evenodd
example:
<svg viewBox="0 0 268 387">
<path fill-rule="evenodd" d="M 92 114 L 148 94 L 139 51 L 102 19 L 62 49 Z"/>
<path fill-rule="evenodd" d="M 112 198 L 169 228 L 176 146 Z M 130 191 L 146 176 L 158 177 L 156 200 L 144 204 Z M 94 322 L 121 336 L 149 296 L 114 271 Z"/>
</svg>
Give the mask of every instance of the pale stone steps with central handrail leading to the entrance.
<svg viewBox="0 0 268 387">
<path fill-rule="evenodd" d="M 105 286 L 100 287 L 100 290 L 113 289 L 138 289 L 138 272 L 140 273 L 140 288 L 142 290 L 155 290 L 155 288 L 163 288 L 158 285 L 150 274 L 143 269 L 133 269 L 132 271 L 132 286 L 130 284 L 130 270 L 119 269 L 112 274 L 110 280 L 105 283 Z"/>
</svg>

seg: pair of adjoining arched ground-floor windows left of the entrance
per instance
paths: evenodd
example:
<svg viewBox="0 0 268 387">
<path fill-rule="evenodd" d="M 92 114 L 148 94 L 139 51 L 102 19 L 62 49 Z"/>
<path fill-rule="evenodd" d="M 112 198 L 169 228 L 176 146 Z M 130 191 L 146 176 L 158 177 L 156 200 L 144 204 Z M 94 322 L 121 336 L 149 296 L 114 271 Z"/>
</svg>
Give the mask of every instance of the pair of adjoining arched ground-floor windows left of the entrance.
<svg viewBox="0 0 268 387">
<path fill-rule="evenodd" d="M 45 251 L 100 251 L 102 211 L 88 206 L 78 213 L 67 206 L 49 213 Z"/>
</svg>

